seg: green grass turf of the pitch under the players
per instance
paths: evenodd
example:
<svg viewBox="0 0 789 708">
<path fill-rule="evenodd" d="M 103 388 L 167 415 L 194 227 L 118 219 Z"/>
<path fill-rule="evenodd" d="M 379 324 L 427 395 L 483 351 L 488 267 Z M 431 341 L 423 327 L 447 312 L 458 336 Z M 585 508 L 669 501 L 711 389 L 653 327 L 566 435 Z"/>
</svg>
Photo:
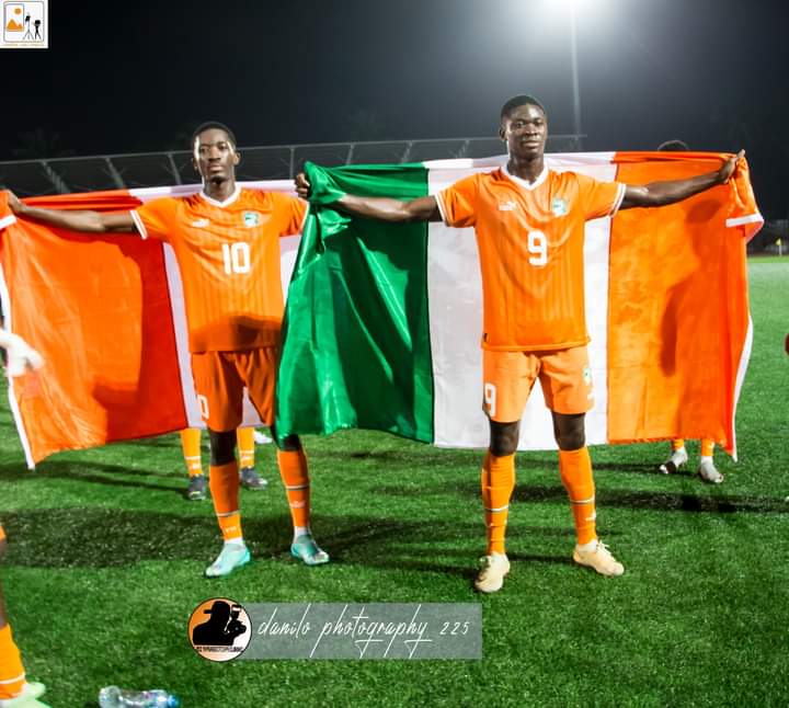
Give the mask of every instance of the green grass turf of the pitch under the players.
<svg viewBox="0 0 789 708">
<path fill-rule="evenodd" d="M 202 576 L 219 549 L 210 504 L 187 503 L 179 438 L 54 456 L 23 469 L 0 412 L 2 570 L 31 678 L 56 708 L 101 686 L 167 687 L 184 706 L 785 705 L 789 685 L 787 382 L 789 260 L 752 261 L 754 349 L 727 481 L 656 473 L 666 444 L 592 449 L 598 528 L 626 574 L 573 567 L 554 455 L 518 458 L 504 590 L 471 590 L 484 529 L 479 454 L 384 434 L 306 438 L 313 529 L 332 563 L 288 555 L 271 446 L 263 492 L 243 492 L 251 566 Z M 691 464 L 697 444 L 690 443 Z M 211 664 L 186 621 L 202 601 L 478 602 L 482 661 Z"/>
</svg>

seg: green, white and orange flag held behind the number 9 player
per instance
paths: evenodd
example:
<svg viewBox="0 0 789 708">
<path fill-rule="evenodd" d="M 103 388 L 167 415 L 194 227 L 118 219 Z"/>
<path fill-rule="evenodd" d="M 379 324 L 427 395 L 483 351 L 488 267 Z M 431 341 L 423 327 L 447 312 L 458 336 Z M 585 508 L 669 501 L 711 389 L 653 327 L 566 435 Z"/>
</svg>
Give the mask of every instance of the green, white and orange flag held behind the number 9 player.
<svg viewBox="0 0 789 708">
<path fill-rule="evenodd" d="M 644 184 L 717 170 L 701 152 L 546 156 L 556 171 Z M 289 286 L 277 432 L 365 427 L 485 447 L 482 297 L 472 229 L 387 225 L 331 208 L 342 193 L 411 199 L 505 157 L 323 169 Z M 745 243 L 761 227 L 747 167 L 681 204 L 586 224 L 590 444 L 710 437 L 735 455 L 748 361 Z M 539 384 L 519 447 L 554 447 Z"/>
</svg>

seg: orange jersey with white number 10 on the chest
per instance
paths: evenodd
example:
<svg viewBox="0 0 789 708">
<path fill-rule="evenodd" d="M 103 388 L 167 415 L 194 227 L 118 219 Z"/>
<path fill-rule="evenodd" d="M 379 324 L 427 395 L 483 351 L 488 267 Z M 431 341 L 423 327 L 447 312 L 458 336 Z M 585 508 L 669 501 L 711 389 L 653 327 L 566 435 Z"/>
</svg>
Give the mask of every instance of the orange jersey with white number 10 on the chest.
<svg viewBox="0 0 789 708">
<path fill-rule="evenodd" d="M 175 252 L 190 352 L 279 344 L 279 237 L 298 233 L 306 210 L 296 197 L 238 187 L 222 203 L 199 193 L 132 212 L 142 238 L 167 241 Z"/>
</svg>

